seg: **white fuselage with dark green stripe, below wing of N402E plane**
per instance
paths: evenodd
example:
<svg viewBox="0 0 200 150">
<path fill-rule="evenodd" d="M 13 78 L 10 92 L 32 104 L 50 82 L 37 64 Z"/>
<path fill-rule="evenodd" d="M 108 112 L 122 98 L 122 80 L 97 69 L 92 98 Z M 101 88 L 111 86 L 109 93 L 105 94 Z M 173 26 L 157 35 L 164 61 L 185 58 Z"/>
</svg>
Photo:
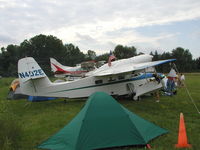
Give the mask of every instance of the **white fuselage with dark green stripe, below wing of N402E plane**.
<svg viewBox="0 0 200 150">
<path fill-rule="evenodd" d="M 145 75 L 147 74 L 141 74 L 135 77 L 131 74 L 110 77 L 90 76 L 63 83 L 51 83 L 47 78 L 45 80 L 41 78 L 25 82 L 22 88 L 24 89 L 24 93 L 32 96 L 80 98 L 88 97 L 97 91 L 106 92 L 110 95 L 131 94 L 131 91 L 127 87 L 131 83 L 136 93 L 136 99 L 140 95 L 162 87 L 161 83 L 155 80 L 150 81 L 154 77 L 145 78 Z M 35 86 L 35 88 L 31 88 L 30 86 Z"/>
</svg>

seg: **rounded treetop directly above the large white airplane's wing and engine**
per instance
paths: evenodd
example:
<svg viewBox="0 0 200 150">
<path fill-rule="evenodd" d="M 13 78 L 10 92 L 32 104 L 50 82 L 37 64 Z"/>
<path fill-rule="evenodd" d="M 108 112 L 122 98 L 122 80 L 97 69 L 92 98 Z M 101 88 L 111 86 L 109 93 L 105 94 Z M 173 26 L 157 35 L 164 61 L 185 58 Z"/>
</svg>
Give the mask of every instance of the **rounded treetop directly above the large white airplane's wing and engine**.
<svg viewBox="0 0 200 150">
<path fill-rule="evenodd" d="M 136 51 L 137 50 L 134 46 L 128 47 L 117 45 L 114 49 L 114 55 L 117 57 L 117 59 L 130 58 L 137 55 Z"/>
</svg>

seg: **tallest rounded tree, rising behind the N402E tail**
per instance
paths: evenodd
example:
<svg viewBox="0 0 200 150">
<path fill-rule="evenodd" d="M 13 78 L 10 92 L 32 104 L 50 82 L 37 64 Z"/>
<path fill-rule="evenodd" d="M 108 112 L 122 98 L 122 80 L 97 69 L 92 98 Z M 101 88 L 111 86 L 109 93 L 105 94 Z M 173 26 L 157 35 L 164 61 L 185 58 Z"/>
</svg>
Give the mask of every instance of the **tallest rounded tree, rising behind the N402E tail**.
<svg viewBox="0 0 200 150">
<path fill-rule="evenodd" d="M 48 75 L 50 72 L 49 58 L 60 59 L 64 54 L 61 40 L 52 35 L 37 35 L 30 40 L 24 40 L 19 47 L 20 57 L 33 57 Z"/>
</svg>

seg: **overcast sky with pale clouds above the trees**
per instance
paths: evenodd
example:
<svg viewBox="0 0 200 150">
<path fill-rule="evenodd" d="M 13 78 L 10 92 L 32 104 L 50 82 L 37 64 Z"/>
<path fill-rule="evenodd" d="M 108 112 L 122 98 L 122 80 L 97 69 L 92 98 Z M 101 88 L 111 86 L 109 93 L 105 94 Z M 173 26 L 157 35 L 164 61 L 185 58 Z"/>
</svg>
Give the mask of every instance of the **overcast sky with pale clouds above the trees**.
<svg viewBox="0 0 200 150">
<path fill-rule="evenodd" d="M 102 54 L 117 44 L 138 52 L 176 47 L 200 56 L 200 0 L 0 0 L 0 47 L 54 35 Z"/>
</svg>

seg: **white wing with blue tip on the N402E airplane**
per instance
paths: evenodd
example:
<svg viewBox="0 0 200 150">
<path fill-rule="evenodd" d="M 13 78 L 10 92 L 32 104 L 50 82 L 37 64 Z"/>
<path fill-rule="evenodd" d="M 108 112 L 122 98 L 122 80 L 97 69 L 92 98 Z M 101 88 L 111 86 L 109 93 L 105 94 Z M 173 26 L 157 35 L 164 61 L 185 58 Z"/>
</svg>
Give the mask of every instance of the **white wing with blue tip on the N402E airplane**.
<svg viewBox="0 0 200 150">
<path fill-rule="evenodd" d="M 154 66 L 172 62 L 175 60 L 176 59 L 167 59 L 167 60 L 159 60 L 159 61 L 153 61 L 153 62 L 138 63 L 138 64 L 133 64 L 133 65 L 129 64 L 128 66 L 127 64 L 123 64 L 119 67 L 111 66 L 105 69 L 97 69 L 93 73 L 93 76 L 108 76 L 108 75 L 127 73 L 127 72 L 136 71 L 136 70 L 142 70 L 149 67 L 154 67 Z"/>
</svg>

